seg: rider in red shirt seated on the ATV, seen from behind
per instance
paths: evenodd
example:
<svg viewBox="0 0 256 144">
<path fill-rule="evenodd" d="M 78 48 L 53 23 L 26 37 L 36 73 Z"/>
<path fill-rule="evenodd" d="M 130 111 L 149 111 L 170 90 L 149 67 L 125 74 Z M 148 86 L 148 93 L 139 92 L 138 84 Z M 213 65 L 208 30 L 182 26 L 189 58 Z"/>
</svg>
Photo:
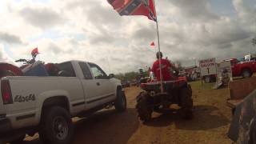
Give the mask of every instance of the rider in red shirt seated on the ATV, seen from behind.
<svg viewBox="0 0 256 144">
<path fill-rule="evenodd" d="M 156 54 L 157 60 L 154 62 L 152 66 L 152 71 L 154 75 L 157 77 L 157 80 L 160 81 L 160 68 L 159 68 L 159 59 L 161 60 L 161 68 L 162 68 L 162 80 L 163 81 L 171 81 L 173 80 L 173 75 L 171 74 L 171 70 L 173 65 L 167 59 L 162 59 L 162 52 L 158 52 Z M 160 56 L 160 58 L 159 58 Z"/>
</svg>

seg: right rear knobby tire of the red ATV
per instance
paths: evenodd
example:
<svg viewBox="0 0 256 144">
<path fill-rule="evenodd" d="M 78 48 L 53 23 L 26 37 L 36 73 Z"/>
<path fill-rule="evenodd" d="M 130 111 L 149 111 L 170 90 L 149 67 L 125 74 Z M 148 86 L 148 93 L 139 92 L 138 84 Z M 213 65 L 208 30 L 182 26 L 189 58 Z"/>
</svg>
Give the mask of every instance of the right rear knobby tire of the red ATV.
<svg viewBox="0 0 256 144">
<path fill-rule="evenodd" d="M 182 87 L 180 91 L 181 100 L 181 115 L 182 118 L 191 119 L 193 118 L 193 99 L 192 99 L 192 89 L 190 85 Z"/>
</svg>

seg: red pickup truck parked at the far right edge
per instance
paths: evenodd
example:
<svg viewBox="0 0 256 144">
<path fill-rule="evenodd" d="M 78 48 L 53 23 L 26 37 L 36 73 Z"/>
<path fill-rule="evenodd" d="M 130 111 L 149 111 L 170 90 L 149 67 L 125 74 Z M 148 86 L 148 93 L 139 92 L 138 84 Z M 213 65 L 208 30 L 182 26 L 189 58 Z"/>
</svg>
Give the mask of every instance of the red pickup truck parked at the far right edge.
<svg viewBox="0 0 256 144">
<path fill-rule="evenodd" d="M 232 66 L 232 76 L 242 78 L 250 78 L 252 74 L 256 72 L 256 62 L 255 61 L 247 61 L 247 62 L 238 62 L 238 59 L 232 58 L 230 59 Z"/>
</svg>

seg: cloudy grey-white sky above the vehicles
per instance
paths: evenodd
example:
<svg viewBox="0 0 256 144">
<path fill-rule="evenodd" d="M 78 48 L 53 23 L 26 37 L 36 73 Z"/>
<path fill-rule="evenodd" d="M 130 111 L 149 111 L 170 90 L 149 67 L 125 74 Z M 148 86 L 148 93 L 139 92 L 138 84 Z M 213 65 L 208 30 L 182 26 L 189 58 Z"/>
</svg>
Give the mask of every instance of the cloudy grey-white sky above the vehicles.
<svg viewBox="0 0 256 144">
<path fill-rule="evenodd" d="M 164 56 L 237 58 L 256 52 L 256 0 L 155 0 Z M 0 62 L 30 58 L 95 62 L 107 73 L 138 70 L 155 59 L 155 22 L 123 16 L 106 0 L 1 0 Z"/>
</svg>

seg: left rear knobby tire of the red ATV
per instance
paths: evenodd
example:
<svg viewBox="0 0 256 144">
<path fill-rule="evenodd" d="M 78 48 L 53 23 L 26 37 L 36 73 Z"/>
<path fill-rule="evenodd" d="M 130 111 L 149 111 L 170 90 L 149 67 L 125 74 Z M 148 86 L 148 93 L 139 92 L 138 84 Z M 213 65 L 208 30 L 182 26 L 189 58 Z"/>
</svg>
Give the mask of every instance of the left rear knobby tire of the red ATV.
<svg viewBox="0 0 256 144">
<path fill-rule="evenodd" d="M 146 92 L 142 92 L 137 97 L 136 109 L 138 111 L 138 117 L 142 122 L 148 122 L 153 113 L 154 103 L 150 98 L 150 95 Z"/>
</svg>

